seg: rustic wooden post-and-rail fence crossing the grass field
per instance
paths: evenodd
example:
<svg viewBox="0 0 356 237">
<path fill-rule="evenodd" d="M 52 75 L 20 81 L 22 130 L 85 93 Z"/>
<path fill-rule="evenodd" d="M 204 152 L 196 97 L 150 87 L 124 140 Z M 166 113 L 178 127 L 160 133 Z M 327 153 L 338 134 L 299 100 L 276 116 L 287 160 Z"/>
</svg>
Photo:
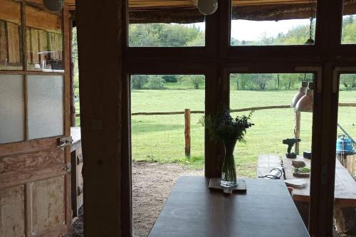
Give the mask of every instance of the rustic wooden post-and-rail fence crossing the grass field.
<svg viewBox="0 0 356 237">
<path fill-rule="evenodd" d="M 339 107 L 356 107 L 356 103 L 339 103 Z M 287 109 L 291 108 L 290 105 L 273 105 L 273 106 L 261 106 L 261 107 L 246 107 L 242 109 L 231 110 L 231 112 L 248 112 L 252 110 L 275 110 L 275 109 Z M 204 114 L 203 110 L 189 110 L 177 112 L 133 112 L 132 116 L 137 115 L 184 115 L 184 139 L 185 139 L 185 155 L 190 157 L 191 149 L 191 136 L 190 136 L 190 121 L 192 114 Z M 80 117 L 80 114 L 76 114 L 75 117 Z M 300 112 L 295 112 L 295 128 L 294 128 L 295 138 L 300 136 Z M 295 144 L 295 153 L 299 154 L 299 144 Z"/>
</svg>

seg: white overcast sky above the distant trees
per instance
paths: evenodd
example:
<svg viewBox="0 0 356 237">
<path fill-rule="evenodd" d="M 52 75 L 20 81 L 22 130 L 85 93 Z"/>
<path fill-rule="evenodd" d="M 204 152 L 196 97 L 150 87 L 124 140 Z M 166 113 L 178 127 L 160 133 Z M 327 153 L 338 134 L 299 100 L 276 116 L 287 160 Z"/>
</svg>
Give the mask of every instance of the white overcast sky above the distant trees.
<svg viewBox="0 0 356 237">
<path fill-rule="evenodd" d="M 263 33 L 276 37 L 278 33 L 287 33 L 295 26 L 309 25 L 309 19 L 284 20 L 284 21 L 231 21 L 231 36 L 239 41 L 258 40 Z M 205 23 L 194 23 L 201 30 L 205 29 Z"/>
</svg>

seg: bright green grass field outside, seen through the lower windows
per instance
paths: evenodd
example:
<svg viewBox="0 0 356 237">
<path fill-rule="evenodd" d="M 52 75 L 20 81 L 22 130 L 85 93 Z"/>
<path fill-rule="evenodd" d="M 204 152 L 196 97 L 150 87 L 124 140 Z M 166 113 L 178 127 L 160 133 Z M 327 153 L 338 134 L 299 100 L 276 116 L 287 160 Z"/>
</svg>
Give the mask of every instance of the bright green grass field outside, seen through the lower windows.
<svg viewBox="0 0 356 237">
<path fill-rule="evenodd" d="M 172 112 L 184 111 L 186 108 L 204 110 L 204 95 L 204 90 L 175 90 L 172 87 L 169 90 L 132 90 L 132 112 Z M 231 108 L 288 105 L 293 95 L 295 91 L 231 90 Z M 340 92 L 340 102 L 355 102 L 355 98 L 356 91 Z M 175 162 L 192 169 L 203 169 L 204 128 L 197 124 L 200 117 L 201 115 L 192 115 L 192 157 L 186 158 L 184 115 L 132 116 L 132 159 Z M 238 143 L 234 153 L 238 175 L 244 177 L 256 177 L 258 155 L 282 156 L 287 150 L 282 140 L 294 137 L 293 109 L 256 111 L 252 121 L 255 126 L 248 130 L 246 144 Z M 356 108 L 340 107 L 339 123 L 356 138 Z M 311 137 L 312 113 L 302 112 L 300 152 L 310 151 Z"/>
</svg>

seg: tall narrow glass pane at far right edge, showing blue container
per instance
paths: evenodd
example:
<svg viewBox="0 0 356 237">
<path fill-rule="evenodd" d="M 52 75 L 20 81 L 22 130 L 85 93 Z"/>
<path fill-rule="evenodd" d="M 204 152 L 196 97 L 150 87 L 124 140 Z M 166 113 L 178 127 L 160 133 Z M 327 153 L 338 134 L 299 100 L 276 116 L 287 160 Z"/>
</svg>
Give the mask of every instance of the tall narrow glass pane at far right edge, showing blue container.
<svg viewBox="0 0 356 237">
<path fill-rule="evenodd" d="M 356 223 L 356 74 L 340 75 L 335 159 L 334 226 L 339 236 L 354 236 Z"/>
</svg>

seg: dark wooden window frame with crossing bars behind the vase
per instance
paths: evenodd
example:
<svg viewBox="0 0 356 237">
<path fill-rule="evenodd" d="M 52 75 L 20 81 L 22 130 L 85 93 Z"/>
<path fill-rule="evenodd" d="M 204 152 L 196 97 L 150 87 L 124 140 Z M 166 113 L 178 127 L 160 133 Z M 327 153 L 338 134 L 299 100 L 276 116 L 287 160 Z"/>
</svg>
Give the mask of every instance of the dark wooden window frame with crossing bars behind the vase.
<svg viewBox="0 0 356 237">
<path fill-rule="evenodd" d="M 128 0 L 126 0 L 126 7 Z M 253 73 L 295 73 L 295 67 L 307 66 L 305 72 L 315 72 L 318 67 L 319 81 L 315 93 L 313 112 L 313 174 L 310 187 L 311 236 L 328 236 L 333 231 L 333 195 L 335 179 L 334 128 L 337 124 L 337 97 L 333 93 L 333 70 L 335 67 L 355 66 L 356 45 L 341 44 L 342 0 L 318 1 L 313 46 L 230 46 L 231 1 L 219 0 L 215 14 L 206 16 L 206 43 L 204 47 L 192 48 L 130 48 L 127 46 L 127 18 L 122 41 L 124 78 L 130 74 L 204 74 L 206 77 L 206 114 L 216 113 L 221 102 L 229 102 L 229 72 L 244 70 Z M 128 9 L 126 9 L 128 13 Z M 268 62 L 268 63 L 266 63 Z M 312 67 L 312 68 L 310 68 Z M 276 68 L 278 68 L 276 70 Z M 129 84 L 128 81 L 125 85 Z M 126 86 L 126 90 L 130 86 Z M 128 97 L 130 100 L 130 97 Z M 130 107 L 130 101 L 129 107 Z M 331 105 L 331 106 L 330 106 Z M 130 109 L 127 109 L 130 115 Z M 130 134 L 130 120 L 125 124 Z M 325 131 L 327 135 L 325 135 Z M 130 139 L 130 135 L 128 136 Z M 126 139 L 126 137 L 125 137 Z M 130 140 L 127 140 L 130 147 Z M 123 235 L 132 234 L 132 199 L 130 152 L 123 159 L 122 224 Z M 205 142 L 205 176 L 219 177 L 222 147 Z M 324 159 L 322 159 L 322 157 Z M 325 159 L 328 157 L 328 159 Z M 130 218 L 127 218 L 130 216 Z"/>
</svg>

